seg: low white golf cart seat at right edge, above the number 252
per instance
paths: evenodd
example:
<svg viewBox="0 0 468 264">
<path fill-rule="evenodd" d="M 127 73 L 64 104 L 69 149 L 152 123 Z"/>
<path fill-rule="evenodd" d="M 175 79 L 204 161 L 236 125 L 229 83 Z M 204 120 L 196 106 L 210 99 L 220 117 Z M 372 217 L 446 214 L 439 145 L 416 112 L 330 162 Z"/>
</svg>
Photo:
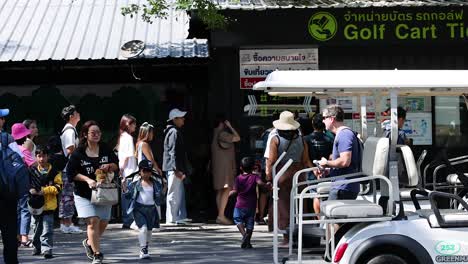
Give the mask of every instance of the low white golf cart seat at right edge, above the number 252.
<svg viewBox="0 0 468 264">
<path fill-rule="evenodd" d="M 446 226 L 443 227 L 468 227 L 468 212 L 456 209 L 440 209 L 440 216 Z M 436 212 L 432 209 L 421 209 L 418 215 L 427 219 L 432 228 L 440 228 Z"/>
</svg>

